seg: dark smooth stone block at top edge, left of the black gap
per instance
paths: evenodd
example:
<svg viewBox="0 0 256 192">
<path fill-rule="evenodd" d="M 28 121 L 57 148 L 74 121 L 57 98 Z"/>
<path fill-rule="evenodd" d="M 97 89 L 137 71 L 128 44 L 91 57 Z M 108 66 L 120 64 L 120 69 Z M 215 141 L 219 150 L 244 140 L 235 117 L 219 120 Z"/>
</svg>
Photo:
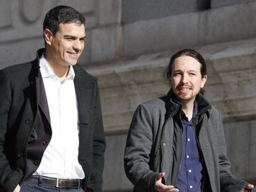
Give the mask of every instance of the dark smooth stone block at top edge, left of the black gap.
<svg viewBox="0 0 256 192">
<path fill-rule="evenodd" d="M 123 0 L 122 23 L 149 20 L 200 10 L 200 0 Z"/>
</svg>

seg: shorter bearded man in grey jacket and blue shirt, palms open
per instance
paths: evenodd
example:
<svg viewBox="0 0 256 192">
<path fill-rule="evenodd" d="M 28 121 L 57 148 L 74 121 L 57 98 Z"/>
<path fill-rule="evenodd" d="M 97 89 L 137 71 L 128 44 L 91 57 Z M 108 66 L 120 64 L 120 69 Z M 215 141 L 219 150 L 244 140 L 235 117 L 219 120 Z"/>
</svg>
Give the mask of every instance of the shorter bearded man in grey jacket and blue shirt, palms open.
<svg viewBox="0 0 256 192">
<path fill-rule="evenodd" d="M 223 123 L 203 96 L 207 65 L 192 49 L 171 57 L 166 96 L 135 111 L 124 154 L 134 192 L 239 192 L 254 188 L 231 174 Z"/>
</svg>

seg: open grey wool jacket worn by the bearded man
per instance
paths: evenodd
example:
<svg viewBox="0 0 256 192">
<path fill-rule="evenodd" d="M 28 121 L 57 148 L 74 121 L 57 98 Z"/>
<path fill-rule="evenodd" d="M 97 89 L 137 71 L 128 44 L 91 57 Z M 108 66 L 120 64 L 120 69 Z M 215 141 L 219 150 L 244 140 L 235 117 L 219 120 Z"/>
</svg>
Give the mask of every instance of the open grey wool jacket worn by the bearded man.
<svg viewBox="0 0 256 192">
<path fill-rule="evenodd" d="M 194 128 L 204 167 L 203 191 L 239 192 L 247 182 L 230 172 L 221 116 L 202 94 L 196 101 Z M 126 175 L 134 191 L 156 191 L 159 172 L 166 173 L 164 184 L 175 185 L 182 156 L 181 110 L 172 91 L 137 107 L 124 152 Z"/>
</svg>

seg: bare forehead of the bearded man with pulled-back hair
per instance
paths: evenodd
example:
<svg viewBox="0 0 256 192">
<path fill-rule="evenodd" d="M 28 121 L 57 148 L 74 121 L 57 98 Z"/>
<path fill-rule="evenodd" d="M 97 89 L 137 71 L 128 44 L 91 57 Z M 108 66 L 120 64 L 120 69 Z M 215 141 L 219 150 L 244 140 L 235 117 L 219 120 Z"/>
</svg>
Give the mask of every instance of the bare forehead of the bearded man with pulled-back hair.
<svg viewBox="0 0 256 192">
<path fill-rule="evenodd" d="M 173 62 L 173 70 L 195 70 L 200 71 L 201 64 L 190 56 L 177 57 Z"/>
</svg>

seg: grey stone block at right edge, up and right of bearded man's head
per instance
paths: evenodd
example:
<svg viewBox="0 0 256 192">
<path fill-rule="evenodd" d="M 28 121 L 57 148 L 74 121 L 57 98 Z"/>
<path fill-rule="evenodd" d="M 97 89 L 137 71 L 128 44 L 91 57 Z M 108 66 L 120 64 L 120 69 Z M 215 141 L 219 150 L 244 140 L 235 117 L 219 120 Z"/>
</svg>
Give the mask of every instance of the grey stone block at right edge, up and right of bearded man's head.
<svg viewBox="0 0 256 192">
<path fill-rule="evenodd" d="M 212 44 L 254 38 L 256 2 L 221 7 L 202 12 L 198 33 L 200 44 Z M 246 30 L 245 30 L 246 29 Z"/>
</svg>

